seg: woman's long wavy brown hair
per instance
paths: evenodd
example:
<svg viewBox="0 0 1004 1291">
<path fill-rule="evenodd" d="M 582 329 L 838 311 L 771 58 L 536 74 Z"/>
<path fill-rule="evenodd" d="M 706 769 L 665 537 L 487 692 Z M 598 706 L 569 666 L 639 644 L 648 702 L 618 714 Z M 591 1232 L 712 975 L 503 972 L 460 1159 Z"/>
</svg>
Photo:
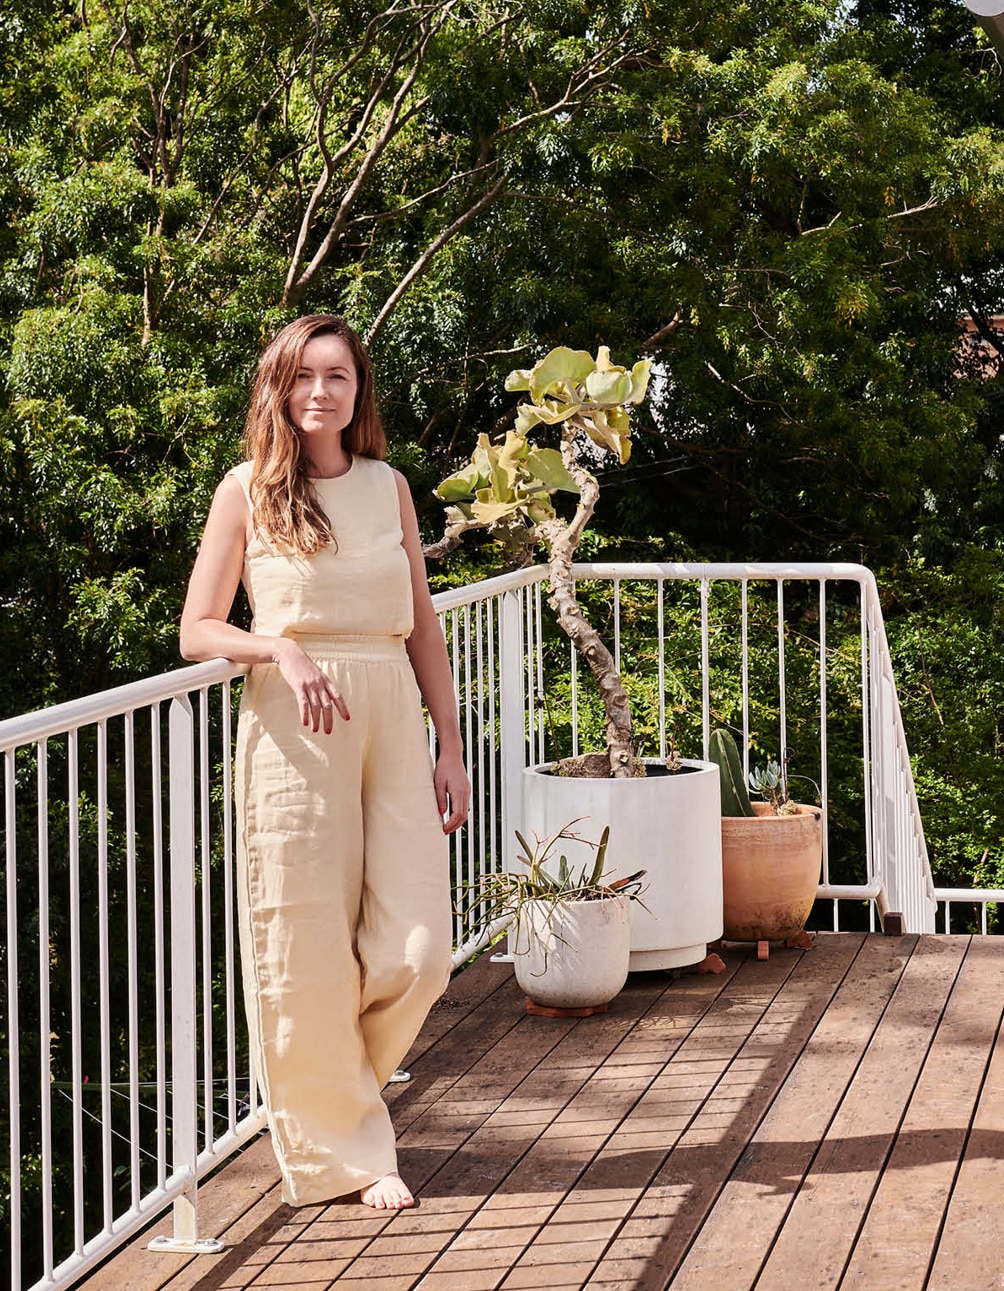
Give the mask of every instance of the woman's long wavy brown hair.
<svg viewBox="0 0 1004 1291">
<path fill-rule="evenodd" d="M 315 336 L 337 336 L 348 346 L 356 369 L 352 421 L 342 431 L 342 445 L 356 457 L 387 456 L 387 439 L 377 412 L 369 355 L 352 328 L 337 314 L 308 314 L 294 319 L 262 351 L 244 426 L 244 453 L 252 469 L 254 528 L 301 555 L 334 542 L 328 516 L 308 475 L 308 458 L 299 432 L 289 420 L 289 395 Z"/>
</svg>

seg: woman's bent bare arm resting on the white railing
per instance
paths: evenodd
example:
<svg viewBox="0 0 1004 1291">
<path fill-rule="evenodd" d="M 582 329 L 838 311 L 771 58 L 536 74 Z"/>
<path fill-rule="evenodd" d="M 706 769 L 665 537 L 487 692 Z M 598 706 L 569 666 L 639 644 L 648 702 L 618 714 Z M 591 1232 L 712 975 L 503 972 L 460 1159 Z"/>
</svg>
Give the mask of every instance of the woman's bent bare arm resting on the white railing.
<svg viewBox="0 0 1004 1291">
<path fill-rule="evenodd" d="M 333 711 L 348 718 L 345 700 L 289 636 L 261 636 L 227 622 L 244 569 L 249 515 L 244 491 L 227 475 L 216 491 L 181 616 L 181 653 L 188 660 L 277 664 L 299 705 L 303 726 L 330 733 Z"/>
</svg>

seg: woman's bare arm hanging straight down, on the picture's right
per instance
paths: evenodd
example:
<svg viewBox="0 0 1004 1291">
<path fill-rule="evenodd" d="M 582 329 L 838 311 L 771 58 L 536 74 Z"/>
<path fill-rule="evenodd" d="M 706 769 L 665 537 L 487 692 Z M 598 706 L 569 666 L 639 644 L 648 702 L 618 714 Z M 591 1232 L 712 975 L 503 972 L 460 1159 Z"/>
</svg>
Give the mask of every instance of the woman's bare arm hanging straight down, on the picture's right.
<svg viewBox="0 0 1004 1291">
<path fill-rule="evenodd" d="M 439 757 L 434 776 L 436 802 L 440 815 L 449 816 L 443 825 L 445 834 L 452 834 L 467 820 L 471 803 L 471 781 L 463 766 L 463 741 L 457 722 L 457 700 L 453 692 L 453 673 L 447 653 L 443 629 L 432 608 L 426 577 L 426 558 L 422 555 L 422 538 L 418 533 L 418 518 L 412 501 L 408 480 L 400 471 L 394 473 L 397 484 L 397 497 L 401 513 L 403 546 L 408 553 L 412 569 L 412 600 L 414 602 L 414 627 L 408 638 L 408 657 L 412 661 L 418 689 L 426 701 L 426 707 L 436 728 Z"/>
</svg>

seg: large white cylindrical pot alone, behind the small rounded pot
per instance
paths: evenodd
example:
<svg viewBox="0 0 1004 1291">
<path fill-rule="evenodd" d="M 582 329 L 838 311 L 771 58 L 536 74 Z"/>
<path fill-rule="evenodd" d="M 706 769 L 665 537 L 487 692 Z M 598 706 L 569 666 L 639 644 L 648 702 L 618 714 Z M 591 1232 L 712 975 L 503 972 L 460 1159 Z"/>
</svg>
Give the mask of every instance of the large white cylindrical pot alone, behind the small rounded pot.
<svg viewBox="0 0 1004 1291">
<path fill-rule="evenodd" d="M 647 870 L 641 901 L 631 902 L 631 971 L 698 963 L 721 936 L 721 795 L 712 762 L 684 760 L 679 775 L 648 759 L 632 780 L 552 776 L 550 763 L 523 773 L 523 833 L 546 837 L 577 817 L 596 842 L 610 826 L 604 874 Z M 561 843 L 578 869 L 594 855 L 585 843 Z M 644 905 L 643 905 L 644 902 Z"/>
</svg>

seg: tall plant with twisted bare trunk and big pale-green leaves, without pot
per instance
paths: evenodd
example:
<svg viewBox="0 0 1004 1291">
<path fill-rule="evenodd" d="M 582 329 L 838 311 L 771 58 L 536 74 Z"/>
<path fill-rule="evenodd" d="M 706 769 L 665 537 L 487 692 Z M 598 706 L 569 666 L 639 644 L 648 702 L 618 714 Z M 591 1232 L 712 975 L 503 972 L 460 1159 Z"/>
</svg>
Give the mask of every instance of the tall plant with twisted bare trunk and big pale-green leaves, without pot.
<svg viewBox="0 0 1004 1291">
<path fill-rule="evenodd" d="M 599 497 L 595 475 L 586 469 L 588 445 L 613 453 L 623 465 L 631 454 L 631 408 L 645 398 L 652 364 L 632 368 L 610 361 L 600 346 L 596 358 L 586 350 L 559 346 L 533 368 L 510 372 L 506 390 L 525 391 L 515 427 L 499 444 L 479 435 L 470 462 L 448 475 L 436 489 L 447 503 L 443 538 L 426 555 L 444 556 L 468 529 L 488 529 L 520 563 L 529 563 L 536 546 L 547 551 L 548 604 L 561 629 L 588 662 L 603 697 L 607 757 L 610 776 L 644 775 L 635 755 L 631 709 L 614 660 L 576 598 L 572 559 Z M 560 426 L 560 447 L 541 445 L 530 436 Z M 554 494 L 576 494 L 574 514 L 563 519 Z"/>
</svg>

